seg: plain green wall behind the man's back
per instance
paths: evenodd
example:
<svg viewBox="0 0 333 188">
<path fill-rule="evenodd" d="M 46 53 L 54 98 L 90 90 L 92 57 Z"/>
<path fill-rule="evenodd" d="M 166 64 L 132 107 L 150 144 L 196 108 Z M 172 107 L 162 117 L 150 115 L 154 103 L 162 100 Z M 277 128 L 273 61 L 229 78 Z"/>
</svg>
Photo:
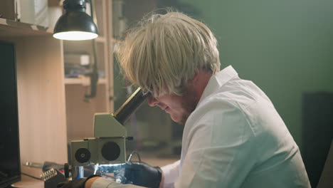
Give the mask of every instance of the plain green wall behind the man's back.
<svg viewBox="0 0 333 188">
<path fill-rule="evenodd" d="M 222 68 L 262 88 L 302 145 L 302 93 L 333 92 L 333 1 L 180 2 L 215 33 Z"/>
</svg>

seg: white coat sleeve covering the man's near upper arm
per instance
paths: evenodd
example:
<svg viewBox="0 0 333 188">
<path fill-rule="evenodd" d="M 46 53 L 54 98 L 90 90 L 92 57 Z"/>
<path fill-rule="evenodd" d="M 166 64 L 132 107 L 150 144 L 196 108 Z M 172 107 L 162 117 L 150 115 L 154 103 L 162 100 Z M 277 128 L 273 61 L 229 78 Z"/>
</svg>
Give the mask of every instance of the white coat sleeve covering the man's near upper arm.
<svg viewBox="0 0 333 188">
<path fill-rule="evenodd" d="M 241 187 L 255 163 L 252 132 L 238 108 L 211 108 L 186 135 L 175 187 Z"/>
</svg>

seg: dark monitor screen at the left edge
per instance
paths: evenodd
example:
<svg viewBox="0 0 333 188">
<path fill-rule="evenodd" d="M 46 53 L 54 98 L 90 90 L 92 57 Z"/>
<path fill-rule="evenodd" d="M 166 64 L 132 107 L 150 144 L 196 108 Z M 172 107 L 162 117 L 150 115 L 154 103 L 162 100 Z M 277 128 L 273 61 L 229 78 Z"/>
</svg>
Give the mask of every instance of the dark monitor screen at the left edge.
<svg viewBox="0 0 333 188">
<path fill-rule="evenodd" d="M 21 179 L 16 61 L 13 43 L 0 41 L 0 188 Z"/>
</svg>

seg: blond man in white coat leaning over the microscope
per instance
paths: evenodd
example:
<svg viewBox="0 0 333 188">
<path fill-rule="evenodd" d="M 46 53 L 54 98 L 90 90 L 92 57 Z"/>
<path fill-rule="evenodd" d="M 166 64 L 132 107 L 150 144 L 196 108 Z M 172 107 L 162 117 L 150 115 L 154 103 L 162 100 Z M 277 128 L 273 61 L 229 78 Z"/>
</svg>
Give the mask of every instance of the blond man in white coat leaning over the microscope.
<svg viewBox="0 0 333 188">
<path fill-rule="evenodd" d="M 144 187 L 310 187 L 300 150 L 254 83 L 220 70 L 216 38 L 203 23 L 170 12 L 134 28 L 117 48 L 128 80 L 184 124 L 181 159 L 166 167 L 129 163 Z M 64 187 L 134 187 L 101 177 Z"/>
</svg>

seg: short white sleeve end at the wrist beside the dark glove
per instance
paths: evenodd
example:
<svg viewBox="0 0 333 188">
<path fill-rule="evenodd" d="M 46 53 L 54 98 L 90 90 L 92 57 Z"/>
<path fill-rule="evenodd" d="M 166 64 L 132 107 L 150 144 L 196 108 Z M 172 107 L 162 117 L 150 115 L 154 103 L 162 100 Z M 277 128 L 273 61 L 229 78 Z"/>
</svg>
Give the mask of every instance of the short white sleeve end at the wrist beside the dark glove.
<svg viewBox="0 0 333 188">
<path fill-rule="evenodd" d="M 179 163 L 180 160 L 172 164 L 168 164 L 164 167 L 161 167 L 164 175 L 164 183 L 163 183 L 164 188 L 174 187 L 174 182 L 179 177 Z"/>
</svg>

